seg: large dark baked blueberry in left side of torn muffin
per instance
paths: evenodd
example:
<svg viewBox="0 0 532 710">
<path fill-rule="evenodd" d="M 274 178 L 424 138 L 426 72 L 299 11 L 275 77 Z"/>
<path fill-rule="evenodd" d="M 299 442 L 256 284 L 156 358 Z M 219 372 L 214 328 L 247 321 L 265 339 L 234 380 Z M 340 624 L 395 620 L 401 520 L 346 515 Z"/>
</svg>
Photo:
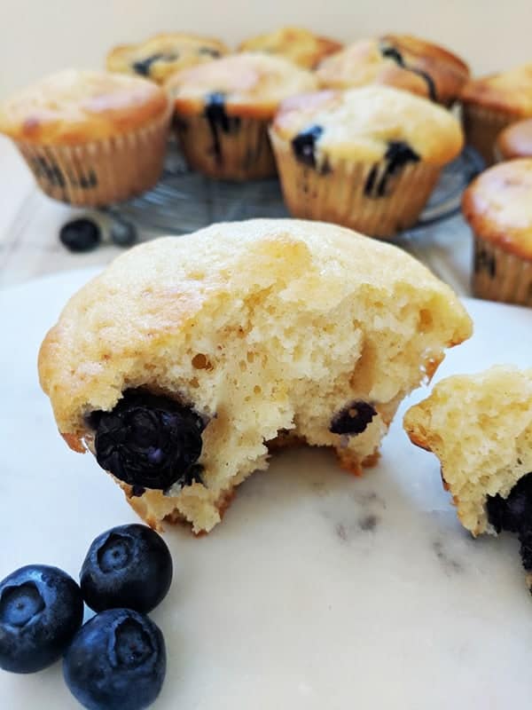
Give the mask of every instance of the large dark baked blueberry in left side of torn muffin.
<svg viewBox="0 0 532 710">
<path fill-rule="evenodd" d="M 129 485 L 166 490 L 200 480 L 199 414 L 174 399 L 127 390 L 112 412 L 94 412 L 94 446 L 102 469 Z"/>
</svg>

